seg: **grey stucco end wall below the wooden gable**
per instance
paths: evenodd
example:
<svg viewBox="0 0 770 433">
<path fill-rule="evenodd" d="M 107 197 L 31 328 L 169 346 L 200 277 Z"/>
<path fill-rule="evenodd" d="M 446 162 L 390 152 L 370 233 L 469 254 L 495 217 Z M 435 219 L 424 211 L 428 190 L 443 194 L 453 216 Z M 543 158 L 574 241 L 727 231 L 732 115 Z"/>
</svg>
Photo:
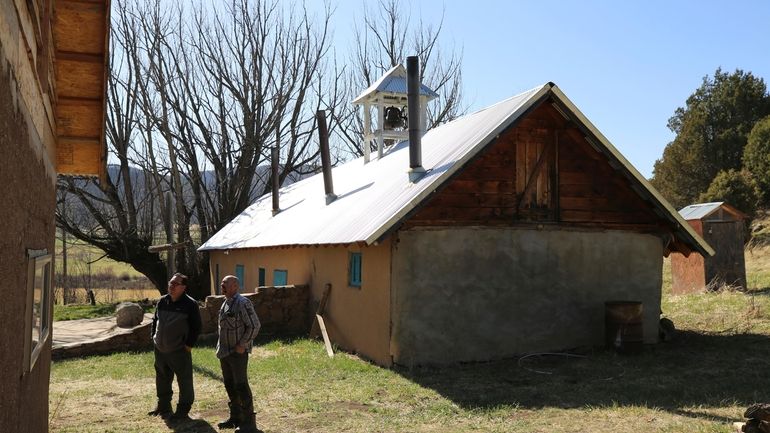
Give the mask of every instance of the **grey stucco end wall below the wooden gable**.
<svg viewBox="0 0 770 433">
<path fill-rule="evenodd" d="M 402 365 L 602 345 L 604 302 L 644 303 L 657 340 L 663 245 L 559 229 L 409 230 L 393 247 L 391 350 Z"/>
</svg>

